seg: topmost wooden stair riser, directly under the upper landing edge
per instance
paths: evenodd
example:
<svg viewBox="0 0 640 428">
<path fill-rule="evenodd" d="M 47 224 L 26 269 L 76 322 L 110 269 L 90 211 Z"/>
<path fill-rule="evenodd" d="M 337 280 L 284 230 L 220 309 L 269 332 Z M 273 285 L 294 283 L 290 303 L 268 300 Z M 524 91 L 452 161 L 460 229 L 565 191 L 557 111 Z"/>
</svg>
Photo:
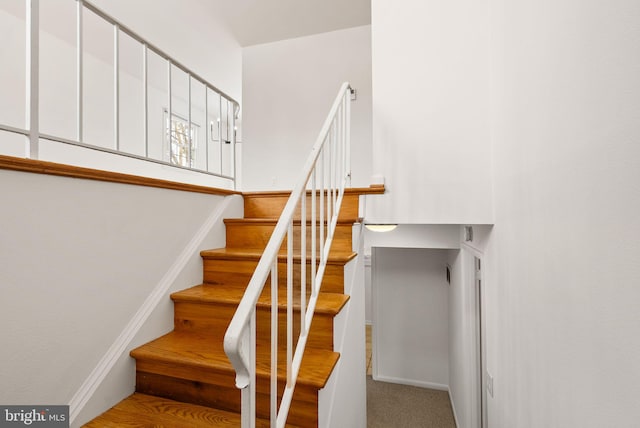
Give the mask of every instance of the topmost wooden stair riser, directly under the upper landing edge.
<svg viewBox="0 0 640 428">
<path fill-rule="evenodd" d="M 278 218 L 289 199 L 289 195 L 279 196 L 263 196 L 263 195 L 245 195 L 244 197 L 244 216 L 245 218 Z M 339 221 L 358 221 L 358 195 L 344 195 L 342 206 L 340 207 Z M 325 194 L 324 209 L 326 217 L 327 198 Z M 307 219 L 311 218 L 311 196 L 307 195 Z M 319 193 L 316 193 L 316 215 L 320 218 L 320 199 Z M 294 218 L 300 220 L 300 207 L 296 209 Z"/>
</svg>

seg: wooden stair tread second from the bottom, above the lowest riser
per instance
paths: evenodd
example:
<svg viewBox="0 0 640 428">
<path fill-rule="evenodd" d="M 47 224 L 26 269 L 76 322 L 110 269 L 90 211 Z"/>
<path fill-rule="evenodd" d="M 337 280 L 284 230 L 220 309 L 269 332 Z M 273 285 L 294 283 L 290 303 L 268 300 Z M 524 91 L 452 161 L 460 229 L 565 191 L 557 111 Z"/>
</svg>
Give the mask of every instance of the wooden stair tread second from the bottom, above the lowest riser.
<svg viewBox="0 0 640 428">
<path fill-rule="evenodd" d="M 256 376 L 269 376 L 269 353 L 269 349 L 258 348 Z M 144 359 L 235 376 L 235 370 L 224 353 L 222 343 L 202 333 L 173 331 L 132 350 L 131 356 L 136 360 Z M 307 348 L 302 358 L 298 383 L 323 388 L 339 357 L 337 352 Z M 285 373 L 286 361 L 278 359 L 278 367 L 280 373 Z"/>
</svg>

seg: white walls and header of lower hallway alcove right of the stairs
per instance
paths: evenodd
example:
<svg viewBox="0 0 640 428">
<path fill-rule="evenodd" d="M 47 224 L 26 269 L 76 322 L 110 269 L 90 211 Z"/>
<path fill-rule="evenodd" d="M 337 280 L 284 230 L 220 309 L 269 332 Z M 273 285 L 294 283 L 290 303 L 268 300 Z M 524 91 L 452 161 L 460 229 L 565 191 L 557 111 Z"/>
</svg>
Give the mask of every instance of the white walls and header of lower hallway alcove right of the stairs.
<svg viewBox="0 0 640 428">
<path fill-rule="evenodd" d="M 474 261 L 487 262 L 490 232 L 488 225 L 399 224 L 365 235 L 369 374 L 445 391 L 458 426 L 481 426 Z"/>
</svg>

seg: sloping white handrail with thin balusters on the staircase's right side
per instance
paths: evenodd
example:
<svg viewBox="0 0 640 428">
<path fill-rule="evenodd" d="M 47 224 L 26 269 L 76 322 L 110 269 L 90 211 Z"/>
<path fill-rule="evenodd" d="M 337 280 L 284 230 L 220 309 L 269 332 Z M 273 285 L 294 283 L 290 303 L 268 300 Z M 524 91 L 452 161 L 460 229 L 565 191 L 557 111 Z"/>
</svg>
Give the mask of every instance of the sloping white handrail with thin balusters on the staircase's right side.
<svg viewBox="0 0 640 428">
<path fill-rule="evenodd" d="M 255 426 L 255 384 L 256 384 L 256 304 L 265 283 L 271 275 L 271 358 L 272 358 L 272 396 L 277 391 L 277 311 L 278 311 L 278 253 L 283 240 L 287 237 L 287 385 L 277 409 L 277 398 L 271 399 L 271 424 L 283 427 L 286 423 L 289 406 L 293 398 L 295 382 L 300 370 L 302 355 L 315 311 L 322 277 L 327 264 L 333 232 L 338 221 L 338 212 L 342 203 L 344 188 L 349 183 L 349 120 L 350 86 L 344 83 L 329 111 L 320 134 L 304 165 L 303 172 L 289 197 L 280 219 L 267 243 L 256 270 L 249 281 L 244 297 L 240 301 L 224 338 L 224 349 L 236 370 L 236 386 L 242 389 L 242 426 Z M 328 159 L 328 160 L 327 160 Z M 318 183 L 319 181 L 319 183 Z M 316 187 L 320 186 L 319 189 Z M 311 246 L 306 245 L 306 195 L 311 192 Z M 319 196 L 320 210 L 320 260 L 316 270 L 316 193 Z M 326 207 L 325 207 L 326 199 Z M 301 205 L 300 259 L 301 259 L 301 327 L 295 351 L 292 334 L 293 295 L 293 221 L 296 207 Z M 326 213 L 325 213 L 326 208 Z M 327 231 L 324 234 L 325 219 Z M 306 260 L 307 251 L 311 254 L 312 290 L 306 301 Z M 305 307 L 306 305 L 306 307 Z"/>
</svg>

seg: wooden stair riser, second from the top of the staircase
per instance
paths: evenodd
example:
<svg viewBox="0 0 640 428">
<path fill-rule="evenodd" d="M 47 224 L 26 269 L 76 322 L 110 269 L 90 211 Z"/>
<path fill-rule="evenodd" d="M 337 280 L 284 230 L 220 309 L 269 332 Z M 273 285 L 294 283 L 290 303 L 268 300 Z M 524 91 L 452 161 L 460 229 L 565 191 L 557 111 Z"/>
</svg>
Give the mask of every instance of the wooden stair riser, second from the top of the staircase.
<svg viewBox="0 0 640 428">
<path fill-rule="evenodd" d="M 228 222 L 227 230 L 227 248 L 258 248 L 264 249 L 271 238 L 271 234 L 275 227 L 274 223 L 255 223 L 255 222 Z M 293 227 L 293 249 L 296 253 L 300 253 L 301 248 L 301 226 Z M 311 226 L 306 227 L 307 247 L 311 247 L 311 235 L 313 229 Z M 333 235 L 331 244 L 331 253 L 352 251 L 353 226 L 351 224 L 338 224 Z M 326 239 L 326 228 L 324 230 Z M 280 247 L 281 251 L 287 250 L 287 238 L 285 237 Z M 316 251 L 320 254 L 320 227 L 316 227 Z"/>
</svg>

